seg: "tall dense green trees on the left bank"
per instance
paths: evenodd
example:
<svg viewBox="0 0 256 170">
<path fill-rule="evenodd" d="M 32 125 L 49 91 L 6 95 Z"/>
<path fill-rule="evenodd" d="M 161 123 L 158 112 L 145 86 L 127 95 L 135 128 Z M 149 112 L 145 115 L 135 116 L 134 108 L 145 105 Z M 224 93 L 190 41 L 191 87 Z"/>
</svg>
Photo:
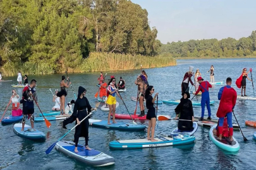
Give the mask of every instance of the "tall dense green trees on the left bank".
<svg viewBox="0 0 256 170">
<path fill-rule="evenodd" d="M 64 72 L 90 52 L 155 56 L 161 42 L 147 15 L 128 0 L 1 0 L 0 67 Z"/>
</svg>

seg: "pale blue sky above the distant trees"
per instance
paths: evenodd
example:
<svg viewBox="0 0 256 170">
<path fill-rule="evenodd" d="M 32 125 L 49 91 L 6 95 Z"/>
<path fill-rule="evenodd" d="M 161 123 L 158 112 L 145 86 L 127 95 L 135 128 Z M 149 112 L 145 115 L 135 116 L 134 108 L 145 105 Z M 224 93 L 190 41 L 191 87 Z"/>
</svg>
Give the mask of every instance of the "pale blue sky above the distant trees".
<svg viewBox="0 0 256 170">
<path fill-rule="evenodd" d="M 149 13 L 162 43 L 248 37 L 256 30 L 256 0 L 131 0 Z"/>
</svg>

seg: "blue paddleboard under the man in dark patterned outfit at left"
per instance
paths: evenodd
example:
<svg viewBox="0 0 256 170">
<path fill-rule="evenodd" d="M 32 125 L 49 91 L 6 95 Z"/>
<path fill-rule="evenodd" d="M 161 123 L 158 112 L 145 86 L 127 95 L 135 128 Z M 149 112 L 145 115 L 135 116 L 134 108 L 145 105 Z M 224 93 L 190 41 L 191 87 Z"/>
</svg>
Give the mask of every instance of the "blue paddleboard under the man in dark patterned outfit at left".
<svg viewBox="0 0 256 170">
<path fill-rule="evenodd" d="M 13 132 L 15 132 L 16 135 L 19 137 L 23 137 L 25 139 L 30 139 L 30 140 L 46 140 L 46 135 L 35 129 L 35 131 L 32 130 L 32 128 L 28 125 L 25 125 L 24 131 L 21 131 L 22 124 L 21 123 L 16 123 L 13 126 Z"/>
</svg>

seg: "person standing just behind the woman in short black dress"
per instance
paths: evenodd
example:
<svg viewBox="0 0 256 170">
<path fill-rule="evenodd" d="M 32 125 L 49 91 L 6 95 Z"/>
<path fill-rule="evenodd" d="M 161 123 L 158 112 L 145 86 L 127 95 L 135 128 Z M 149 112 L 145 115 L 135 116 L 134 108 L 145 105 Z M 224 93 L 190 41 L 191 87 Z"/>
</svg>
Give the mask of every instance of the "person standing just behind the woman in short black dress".
<svg viewBox="0 0 256 170">
<path fill-rule="evenodd" d="M 138 76 L 135 84 L 138 86 L 138 101 L 140 103 L 140 115 L 139 117 L 145 116 L 145 108 L 144 108 L 144 97 L 145 97 L 145 89 L 147 89 L 147 84 L 145 84 L 146 78 L 145 76 Z"/>
</svg>

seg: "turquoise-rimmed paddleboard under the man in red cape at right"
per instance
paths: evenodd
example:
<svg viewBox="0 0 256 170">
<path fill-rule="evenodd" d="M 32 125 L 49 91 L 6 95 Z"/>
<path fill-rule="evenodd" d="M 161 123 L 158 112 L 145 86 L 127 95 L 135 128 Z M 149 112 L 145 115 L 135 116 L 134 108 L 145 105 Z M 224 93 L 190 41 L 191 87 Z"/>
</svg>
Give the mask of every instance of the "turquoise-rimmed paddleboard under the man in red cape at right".
<svg viewBox="0 0 256 170">
<path fill-rule="evenodd" d="M 214 144 L 217 147 L 220 147 L 221 149 L 227 150 L 229 152 L 236 152 L 240 149 L 240 145 L 238 144 L 235 137 L 233 137 L 234 140 L 232 142 L 229 140 L 229 137 L 227 138 L 222 137 L 221 141 L 217 140 L 217 136 L 214 135 L 214 133 L 212 132 L 214 128 L 216 128 L 216 125 L 210 128 L 209 136 L 210 136 L 210 140 L 212 140 L 212 142 L 214 142 Z"/>
</svg>

